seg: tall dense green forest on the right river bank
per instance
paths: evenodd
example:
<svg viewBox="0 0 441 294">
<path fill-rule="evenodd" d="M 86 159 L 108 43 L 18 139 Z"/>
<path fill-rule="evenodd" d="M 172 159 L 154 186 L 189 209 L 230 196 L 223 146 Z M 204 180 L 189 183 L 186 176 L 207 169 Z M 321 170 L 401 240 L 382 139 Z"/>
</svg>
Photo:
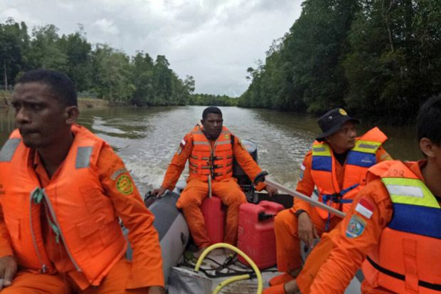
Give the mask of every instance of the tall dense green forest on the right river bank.
<svg viewBox="0 0 441 294">
<path fill-rule="evenodd" d="M 441 93 L 441 1 L 306 0 L 238 105 L 409 122 Z"/>
</svg>

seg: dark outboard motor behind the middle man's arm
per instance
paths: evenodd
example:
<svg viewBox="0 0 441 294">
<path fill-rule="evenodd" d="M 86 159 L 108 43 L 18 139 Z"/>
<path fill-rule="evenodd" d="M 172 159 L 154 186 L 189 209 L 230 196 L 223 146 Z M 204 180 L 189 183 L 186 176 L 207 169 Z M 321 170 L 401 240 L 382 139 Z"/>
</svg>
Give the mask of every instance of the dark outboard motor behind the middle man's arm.
<svg viewBox="0 0 441 294">
<path fill-rule="evenodd" d="M 254 161 L 257 162 L 257 144 L 250 140 L 241 140 L 241 142 L 243 147 L 245 147 L 248 153 L 250 153 L 251 157 L 253 157 Z M 243 169 L 235 160 L 233 162 L 233 177 L 238 179 L 238 184 L 243 189 L 248 202 L 257 203 L 258 197 L 257 194 L 255 194 L 253 182 L 251 182 L 247 174 L 245 174 Z"/>
</svg>

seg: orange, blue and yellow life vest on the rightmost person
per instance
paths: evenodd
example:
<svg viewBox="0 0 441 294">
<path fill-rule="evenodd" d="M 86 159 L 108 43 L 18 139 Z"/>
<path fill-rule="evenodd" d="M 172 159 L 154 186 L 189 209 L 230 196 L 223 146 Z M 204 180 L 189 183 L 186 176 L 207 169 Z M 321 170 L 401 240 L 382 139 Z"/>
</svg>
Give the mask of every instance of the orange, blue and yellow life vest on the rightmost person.
<svg viewBox="0 0 441 294">
<path fill-rule="evenodd" d="M 388 190 L 393 216 L 362 269 L 368 283 L 395 293 L 441 293 L 441 208 L 403 162 L 369 169 Z"/>
</svg>

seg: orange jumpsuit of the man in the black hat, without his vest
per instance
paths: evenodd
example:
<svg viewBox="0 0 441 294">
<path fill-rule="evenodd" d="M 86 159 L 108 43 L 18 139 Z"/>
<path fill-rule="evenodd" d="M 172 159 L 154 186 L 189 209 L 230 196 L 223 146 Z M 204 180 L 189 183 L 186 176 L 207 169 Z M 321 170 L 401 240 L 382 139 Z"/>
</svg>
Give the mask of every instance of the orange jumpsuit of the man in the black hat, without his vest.
<svg viewBox="0 0 441 294">
<path fill-rule="evenodd" d="M 390 159 L 390 155 L 386 152 L 383 147 L 380 147 L 376 152 L 376 161 L 382 162 L 384 160 Z M 312 169 L 312 152 L 308 152 L 304 157 L 302 166 L 304 167 L 302 179 L 299 179 L 297 183 L 296 191 L 304 195 L 312 195 L 314 191 L 314 179 L 311 175 Z M 338 161 L 335 161 L 336 166 L 336 179 L 339 182 L 339 187 L 342 189 L 344 182 L 344 166 L 342 167 Z M 317 183 L 319 185 L 319 183 Z M 285 209 L 280 211 L 275 218 L 275 234 L 276 234 L 276 246 L 277 246 L 277 270 L 280 272 L 289 272 L 300 268 L 302 266 L 302 258 L 300 254 L 300 239 L 297 234 L 298 222 L 297 216 L 295 216 L 295 211 L 302 209 L 307 211 L 309 218 L 317 229 L 319 236 L 325 231 L 326 221 L 322 219 L 319 215 L 317 209 L 315 209 L 311 204 L 302 199 L 294 199 L 294 206 L 292 209 Z M 331 216 L 329 223 L 329 230 L 334 229 L 336 224 L 339 224 L 341 218 L 338 216 Z M 322 242 L 320 242 L 322 243 Z M 320 244 L 319 243 L 319 244 Z M 322 246 L 329 247 L 329 244 L 322 244 Z M 315 251 L 315 250 L 314 250 Z M 313 252 L 314 252 L 313 251 Z M 329 251 L 326 251 L 325 256 L 327 256 Z M 322 258 L 322 256 L 317 256 L 317 258 Z M 318 270 L 318 268 L 317 268 Z M 300 278 L 300 276 L 299 276 Z M 302 280 L 302 278 L 300 278 Z M 298 280 L 297 282 L 299 282 Z M 302 283 L 300 281 L 300 283 Z M 301 286 L 299 284 L 299 286 Z"/>
</svg>

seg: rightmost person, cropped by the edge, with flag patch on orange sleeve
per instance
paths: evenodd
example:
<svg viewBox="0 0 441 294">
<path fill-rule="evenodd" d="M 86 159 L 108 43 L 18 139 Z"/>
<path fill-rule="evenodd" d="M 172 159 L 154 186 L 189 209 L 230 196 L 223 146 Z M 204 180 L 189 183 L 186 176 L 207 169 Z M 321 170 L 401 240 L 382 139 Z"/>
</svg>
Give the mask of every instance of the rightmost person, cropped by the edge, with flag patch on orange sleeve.
<svg viewBox="0 0 441 294">
<path fill-rule="evenodd" d="M 310 293 L 343 293 L 358 268 L 362 293 L 441 293 L 441 96 L 420 108 L 418 162 L 368 170 Z"/>
</svg>

